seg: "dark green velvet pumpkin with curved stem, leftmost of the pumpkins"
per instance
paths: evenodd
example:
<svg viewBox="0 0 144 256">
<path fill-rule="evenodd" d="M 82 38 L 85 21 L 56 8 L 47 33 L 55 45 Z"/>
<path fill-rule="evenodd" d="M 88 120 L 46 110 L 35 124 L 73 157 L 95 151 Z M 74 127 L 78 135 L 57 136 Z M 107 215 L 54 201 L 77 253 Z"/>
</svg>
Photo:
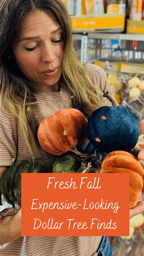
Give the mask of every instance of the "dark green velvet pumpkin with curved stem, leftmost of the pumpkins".
<svg viewBox="0 0 144 256">
<path fill-rule="evenodd" d="M 0 213 L 0 216 L 14 215 L 21 208 L 21 173 L 45 172 L 45 166 L 31 160 L 18 161 L 7 168 L 2 175 L 1 191 L 5 200 L 15 209 L 9 213 Z"/>
</svg>

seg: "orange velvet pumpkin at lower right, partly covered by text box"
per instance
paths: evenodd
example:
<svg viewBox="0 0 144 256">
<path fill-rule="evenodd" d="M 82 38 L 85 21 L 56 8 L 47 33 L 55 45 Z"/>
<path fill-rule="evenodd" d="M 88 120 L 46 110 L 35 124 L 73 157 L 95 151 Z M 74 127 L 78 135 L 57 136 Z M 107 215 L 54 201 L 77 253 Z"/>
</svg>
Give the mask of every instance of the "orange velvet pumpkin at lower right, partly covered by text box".
<svg viewBox="0 0 144 256">
<path fill-rule="evenodd" d="M 129 208 L 136 206 L 140 199 L 144 170 L 139 160 L 125 151 L 113 151 L 102 162 L 102 172 L 129 173 Z"/>
</svg>

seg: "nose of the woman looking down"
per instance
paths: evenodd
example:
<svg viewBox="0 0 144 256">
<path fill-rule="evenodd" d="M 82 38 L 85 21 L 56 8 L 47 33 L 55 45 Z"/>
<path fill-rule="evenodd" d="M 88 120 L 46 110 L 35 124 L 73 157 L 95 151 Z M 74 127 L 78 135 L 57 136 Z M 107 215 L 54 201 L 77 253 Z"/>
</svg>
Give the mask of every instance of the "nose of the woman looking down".
<svg viewBox="0 0 144 256">
<path fill-rule="evenodd" d="M 56 59 L 56 55 L 53 51 L 53 46 L 46 45 L 44 47 L 43 54 L 42 54 L 42 62 L 52 63 L 53 61 L 55 61 L 55 59 Z"/>
</svg>

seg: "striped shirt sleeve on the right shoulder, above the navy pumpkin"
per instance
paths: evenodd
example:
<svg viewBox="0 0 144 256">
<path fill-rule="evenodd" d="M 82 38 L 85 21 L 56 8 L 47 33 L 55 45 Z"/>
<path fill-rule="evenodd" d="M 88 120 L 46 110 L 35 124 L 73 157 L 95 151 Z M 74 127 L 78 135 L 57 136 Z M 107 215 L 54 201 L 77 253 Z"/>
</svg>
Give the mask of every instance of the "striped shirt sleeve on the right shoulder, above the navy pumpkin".
<svg viewBox="0 0 144 256">
<path fill-rule="evenodd" d="M 107 75 L 106 75 L 105 71 L 101 67 L 96 66 L 96 68 L 98 69 L 98 72 L 99 72 L 100 77 L 101 77 L 101 88 L 102 88 L 102 90 L 108 91 L 109 92 L 108 95 L 114 100 L 114 102 L 116 103 L 116 106 L 118 106 L 118 103 L 115 99 L 114 93 L 111 91 L 110 85 L 108 84 L 108 78 L 107 78 Z M 111 102 L 106 97 L 103 97 L 103 98 L 104 98 L 103 99 L 104 106 L 111 107 L 112 106 Z"/>
</svg>

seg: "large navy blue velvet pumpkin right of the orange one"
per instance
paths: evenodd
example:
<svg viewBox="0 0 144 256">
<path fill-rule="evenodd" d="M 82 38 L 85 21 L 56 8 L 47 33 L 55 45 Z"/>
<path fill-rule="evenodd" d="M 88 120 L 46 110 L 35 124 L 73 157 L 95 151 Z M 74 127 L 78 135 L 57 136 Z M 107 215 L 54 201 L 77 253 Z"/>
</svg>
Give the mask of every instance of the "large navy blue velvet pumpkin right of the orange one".
<svg viewBox="0 0 144 256">
<path fill-rule="evenodd" d="M 130 151 L 139 137 L 139 122 L 130 111 L 120 106 L 103 106 L 92 112 L 87 122 L 87 137 L 104 152 Z"/>
</svg>

